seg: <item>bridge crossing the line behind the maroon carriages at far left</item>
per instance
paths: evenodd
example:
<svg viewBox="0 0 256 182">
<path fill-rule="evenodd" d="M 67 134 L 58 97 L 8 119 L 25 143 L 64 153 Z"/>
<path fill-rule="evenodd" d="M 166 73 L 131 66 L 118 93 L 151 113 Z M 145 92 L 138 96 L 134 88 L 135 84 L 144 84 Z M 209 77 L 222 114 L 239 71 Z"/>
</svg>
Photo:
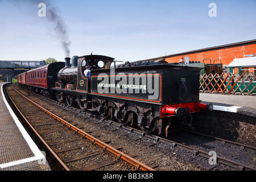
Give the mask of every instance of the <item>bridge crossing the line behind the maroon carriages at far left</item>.
<svg viewBox="0 0 256 182">
<path fill-rule="evenodd" d="M 46 61 L 6 61 L 0 60 L 0 81 L 11 81 L 11 78 L 30 69 L 42 67 Z"/>
</svg>

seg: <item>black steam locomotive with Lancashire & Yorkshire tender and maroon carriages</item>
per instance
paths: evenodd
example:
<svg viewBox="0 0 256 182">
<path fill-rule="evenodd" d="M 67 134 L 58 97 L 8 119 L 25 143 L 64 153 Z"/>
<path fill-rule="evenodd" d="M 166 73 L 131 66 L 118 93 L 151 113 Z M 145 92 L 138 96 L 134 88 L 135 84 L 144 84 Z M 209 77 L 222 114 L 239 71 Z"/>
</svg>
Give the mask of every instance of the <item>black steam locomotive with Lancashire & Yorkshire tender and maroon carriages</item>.
<svg viewBox="0 0 256 182">
<path fill-rule="evenodd" d="M 213 109 L 199 100 L 200 68 L 162 62 L 116 68 L 115 62 L 102 55 L 66 57 L 65 63 L 18 75 L 18 84 L 68 106 L 166 137 L 169 127 L 191 125 L 193 113 Z M 90 77 L 84 75 L 87 67 Z"/>
</svg>

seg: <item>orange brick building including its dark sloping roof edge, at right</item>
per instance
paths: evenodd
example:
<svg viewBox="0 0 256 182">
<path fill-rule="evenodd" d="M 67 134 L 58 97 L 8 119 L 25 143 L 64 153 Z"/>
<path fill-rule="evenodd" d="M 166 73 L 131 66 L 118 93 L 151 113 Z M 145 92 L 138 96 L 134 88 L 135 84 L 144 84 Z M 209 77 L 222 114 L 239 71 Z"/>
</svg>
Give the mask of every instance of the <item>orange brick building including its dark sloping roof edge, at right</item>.
<svg viewBox="0 0 256 182">
<path fill-rule="evenodd" d="M 165 60 L 168 63 L 178 63 L 181 57 L 188 56 L 191 61 L 203 62 L 204 59 L 221 60 L 222 65 L 225 67 L 233 61 L 235 58 L 241 58 L 243 55 L 256 54 L 256 39 L 248 40 L 245 42 L 238 42 L 232 44 L 226 44 L 222 46 L 209 47 L 203 49 L 197 49 L 195 51 L 188 51 L 182 53 L 176 53 L 174 55 L 168 55 L 165 57 L 156 57 L 148 60 Z M 147 60 L 143 60 L 147 61 Z M 216 61 L 217 62 L 217 61 Z M 205 60 L 205 63 L 209 64 L 210 60 Z M 219 62 L 218 62 L 219 63 Z"/>
</svg>

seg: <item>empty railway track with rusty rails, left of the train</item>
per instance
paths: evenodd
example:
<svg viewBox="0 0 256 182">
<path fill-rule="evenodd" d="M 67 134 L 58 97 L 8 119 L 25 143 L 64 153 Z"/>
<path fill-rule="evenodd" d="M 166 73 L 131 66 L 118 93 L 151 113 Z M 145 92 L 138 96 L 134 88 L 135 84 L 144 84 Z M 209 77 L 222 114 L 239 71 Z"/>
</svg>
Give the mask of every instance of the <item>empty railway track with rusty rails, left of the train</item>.
<svg viewBox="0 0 256 182">
<path fill-rule="evenodd" d="M 124 154 L 118 150 L 120 147 L 112 147 L 107 144 L 110 141 L 101 141 L 96 138 L 97 136 L 88 134 L 90 131 L 85 132 L 79 126 L 75 126 L 76 123 L 69 123 L 61 119 L 28 99 L 21 92 L 24 91 L 20 90 L 19 92 L 14 87 L 9 88 L 9 94 L 16 105 L 27 105 L 30 108 L 29 111 L 24 111 L 23 107 L 19 111 L 62 169 L 67 171 L 73 169 L 88 171 L 110 165 L 114 166 L 115 163 L 126 162 L 126 164 L 119 166 L 129 168 L 132 165 L 137 170 L 154 170 L 134 159 L 133 156 L 135 154 Z M 18 100 L 15 100 L 16 94 L 22 97 L 18 97 Z M 84 159 L 86 160 L 82 166 L 77 164 L 75 167 L 68 167 L 69 163 Z M 118 170 L 122 170 L 122 168 Z"/>
</svg>

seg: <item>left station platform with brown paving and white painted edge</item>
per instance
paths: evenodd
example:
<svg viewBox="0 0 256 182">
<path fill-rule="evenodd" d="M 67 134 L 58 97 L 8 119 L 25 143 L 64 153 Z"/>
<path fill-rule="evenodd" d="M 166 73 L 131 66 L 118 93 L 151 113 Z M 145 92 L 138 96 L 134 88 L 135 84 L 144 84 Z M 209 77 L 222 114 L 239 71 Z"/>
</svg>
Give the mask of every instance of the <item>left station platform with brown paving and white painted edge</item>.
<svg viewBox="0 0 256 182">
<path fill-rule="evenodd" d="M 3 94 L 0 83 L 0 171 L 51 171 Z"/>
</svg>

